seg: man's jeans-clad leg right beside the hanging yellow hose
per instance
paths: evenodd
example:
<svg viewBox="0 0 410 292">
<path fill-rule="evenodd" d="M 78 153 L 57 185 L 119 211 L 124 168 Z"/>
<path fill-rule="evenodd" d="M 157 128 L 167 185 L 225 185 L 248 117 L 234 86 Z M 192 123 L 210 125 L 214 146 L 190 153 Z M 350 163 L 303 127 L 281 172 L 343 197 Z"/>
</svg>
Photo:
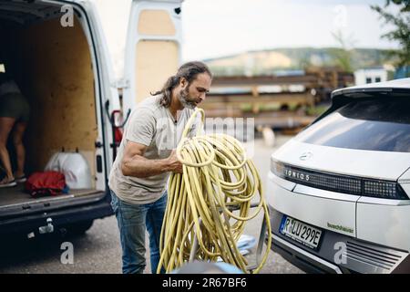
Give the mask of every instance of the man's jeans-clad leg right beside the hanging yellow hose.
<svg viewBox="0 0 410 292">
<path fill-rule="evenodd" d="M 147 213 L 147 230 L 149 232 L 149 255 L 151 261 L 152 274 L 157 273 L 159 264 L 159 238 L 161 235 L 162 221 L 164 220 L 165 209 L 167 208 L 167 192 L 162 197 L 151 204 Z M 161 267 L 161 273 L 165 269 Z"/>
</svg>

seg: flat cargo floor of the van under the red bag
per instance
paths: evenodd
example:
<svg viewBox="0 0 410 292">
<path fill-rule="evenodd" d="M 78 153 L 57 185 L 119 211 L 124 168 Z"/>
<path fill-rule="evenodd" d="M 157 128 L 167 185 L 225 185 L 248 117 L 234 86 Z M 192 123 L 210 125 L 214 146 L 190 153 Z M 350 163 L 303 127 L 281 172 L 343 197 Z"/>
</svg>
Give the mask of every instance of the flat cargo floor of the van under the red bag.
<svg viewBox="0 0 410 292">
<path fill-rule="evenodd" d="M 100 193 L 95 189 L 81 189 L 81 190 L 70 190 L 69 193 L 63 193 L 57 196 L 45 196 L 39 198 L 33 198 L 29 193 L 25 191 L 25 184 L 18 183 L 17 186 L 11 188 L 1 188 L 0 189 L 0 207 L 10 204 L 19 204 L 19 203 L 32 203 L 34 201 L 48 201 L 48 200 L 61 200 L 65 196 L 69 195 L 74 196 L 83 196 L 92 193 Z"/>
</svg>

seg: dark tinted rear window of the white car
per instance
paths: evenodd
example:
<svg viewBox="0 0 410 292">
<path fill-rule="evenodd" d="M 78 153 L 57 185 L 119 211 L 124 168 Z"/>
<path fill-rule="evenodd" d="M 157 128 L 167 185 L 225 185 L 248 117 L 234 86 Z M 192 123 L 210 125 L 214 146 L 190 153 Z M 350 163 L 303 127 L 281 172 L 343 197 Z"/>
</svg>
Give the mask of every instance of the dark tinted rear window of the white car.
<svg viewBox="0 0 410 292">
<path fill-rule="evenodd" d="M 296 139 L 338 148 L 410 152 L 410 97 L 351 102 Z"/>
</svg>

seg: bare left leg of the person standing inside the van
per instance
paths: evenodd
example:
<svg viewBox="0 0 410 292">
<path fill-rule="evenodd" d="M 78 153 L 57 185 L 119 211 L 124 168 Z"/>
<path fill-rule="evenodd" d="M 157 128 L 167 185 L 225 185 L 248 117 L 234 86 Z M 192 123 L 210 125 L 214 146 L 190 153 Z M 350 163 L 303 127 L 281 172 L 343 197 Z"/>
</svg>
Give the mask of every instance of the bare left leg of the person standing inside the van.
<svg viewBox="0 0 410 292">
<path fill-rule="evenodd" d="M 7 139 L 15 124 L 15 118 L 0 117 L 0 161 L 5 168 L 5 182 L 14 180 L 10 156 L 7 151 Z"/>
</svg>

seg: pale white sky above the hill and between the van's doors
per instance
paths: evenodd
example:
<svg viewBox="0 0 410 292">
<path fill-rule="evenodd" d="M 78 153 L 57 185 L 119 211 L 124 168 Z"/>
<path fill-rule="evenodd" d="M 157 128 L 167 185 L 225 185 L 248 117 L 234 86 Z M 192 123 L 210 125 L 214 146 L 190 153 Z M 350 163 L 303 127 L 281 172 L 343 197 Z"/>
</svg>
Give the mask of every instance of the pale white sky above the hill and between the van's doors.
<svg viewBox="0 0 410 292">
<path fill-rule="evenodd" d="M 131 0 L 93 1 L 121 76 Z M 396 48 L 380 38 L 391 26 L 370 9 L 384 1 L 184 0 L 181 61 L 276 47 L 338 47 L 336 31 L 352 40 L 352 47 Z"/>
</svg>

